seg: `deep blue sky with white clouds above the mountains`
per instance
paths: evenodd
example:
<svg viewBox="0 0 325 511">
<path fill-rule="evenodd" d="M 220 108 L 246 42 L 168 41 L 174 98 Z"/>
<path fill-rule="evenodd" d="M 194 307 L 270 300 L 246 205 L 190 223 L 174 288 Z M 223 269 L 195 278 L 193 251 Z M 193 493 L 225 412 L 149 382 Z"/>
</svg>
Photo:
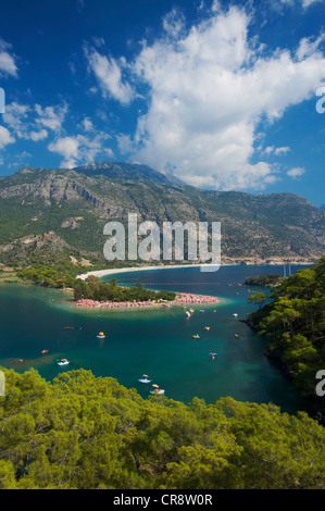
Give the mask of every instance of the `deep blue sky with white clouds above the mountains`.
<svg viewBox="0 0 325 511">
<path fill-rule="evenodd" d="M 325 203 L 325 0 L 0 0 L 0 175 L 141 163 Z"/>
</svg>

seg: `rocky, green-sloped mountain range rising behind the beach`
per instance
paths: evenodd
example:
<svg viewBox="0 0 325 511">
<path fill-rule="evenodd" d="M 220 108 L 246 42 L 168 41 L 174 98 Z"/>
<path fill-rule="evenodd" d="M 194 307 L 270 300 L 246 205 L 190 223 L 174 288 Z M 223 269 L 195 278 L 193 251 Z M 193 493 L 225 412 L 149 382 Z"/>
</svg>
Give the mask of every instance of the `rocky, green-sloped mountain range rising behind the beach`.
<svg viewBox="0 0 325 511">
<path fill-rule="evenodd" d="M 64 253 L 102 261 L 108 221 L 222 223 L 224 263 L 317 260 L 325 214 L 292 194 L 201 190 L 145 165 L 24 167 L 0 177 L 0 263 Z"/>
</svg>

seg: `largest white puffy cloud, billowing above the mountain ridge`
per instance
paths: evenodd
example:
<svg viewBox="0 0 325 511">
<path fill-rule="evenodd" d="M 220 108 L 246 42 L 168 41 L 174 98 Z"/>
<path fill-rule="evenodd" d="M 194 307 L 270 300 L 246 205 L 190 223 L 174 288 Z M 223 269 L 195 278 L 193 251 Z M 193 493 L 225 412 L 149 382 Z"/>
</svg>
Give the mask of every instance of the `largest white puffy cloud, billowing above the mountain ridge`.
<svg viewBox="0 0 325 511">
<path fill-rule="evenodd" d="M 164 35 L 145 41 L 129 64 L 149 90 L 148 110 L 133 136 L 118 135 L 120 149 L 197 186 L 261 189 L 277 179 L 272 164 L 252 163 L 260 122 L 310 99 L 325 78 L 325 59 L 320 38 L 272 53 L 249 38 L 249 24 L 236 7 L 187 30 L 175 11 L 165 17 Z"/>
</svg>

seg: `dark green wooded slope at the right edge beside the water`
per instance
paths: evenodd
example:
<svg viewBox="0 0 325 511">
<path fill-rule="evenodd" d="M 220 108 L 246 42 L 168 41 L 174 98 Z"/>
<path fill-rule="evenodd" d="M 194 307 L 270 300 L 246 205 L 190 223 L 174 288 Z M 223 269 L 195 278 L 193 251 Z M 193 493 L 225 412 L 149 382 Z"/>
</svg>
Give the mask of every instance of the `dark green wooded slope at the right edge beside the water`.
<svg viewBox="0 0 325 511">
<path fill-rule="evenodd" d="M 258 292 L 249 300 L 259 304 L 249 321 L 270 340 L 268 356 L 282 361 L 304 396 L 316 398 L 315 375 L 325 369 L 325 257 L 286 278 L 270 297 Z M 316 399 L 325 411 L 324 398 Z"/>
</svg>

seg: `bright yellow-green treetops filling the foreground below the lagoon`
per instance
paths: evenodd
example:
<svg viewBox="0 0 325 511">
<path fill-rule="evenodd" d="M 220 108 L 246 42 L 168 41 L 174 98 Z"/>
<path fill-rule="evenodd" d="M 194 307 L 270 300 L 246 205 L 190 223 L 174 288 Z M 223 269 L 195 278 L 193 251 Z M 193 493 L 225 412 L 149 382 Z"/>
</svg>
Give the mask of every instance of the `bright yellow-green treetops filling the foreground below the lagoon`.
<svg viewBox="0 0 325 511">
<path fill-rule="evenodd" d="M 3 370 L 1 489 L 321 489 L 325 428 L 223 398 L 142 399 L 85 370 Z"/>
</svg>

